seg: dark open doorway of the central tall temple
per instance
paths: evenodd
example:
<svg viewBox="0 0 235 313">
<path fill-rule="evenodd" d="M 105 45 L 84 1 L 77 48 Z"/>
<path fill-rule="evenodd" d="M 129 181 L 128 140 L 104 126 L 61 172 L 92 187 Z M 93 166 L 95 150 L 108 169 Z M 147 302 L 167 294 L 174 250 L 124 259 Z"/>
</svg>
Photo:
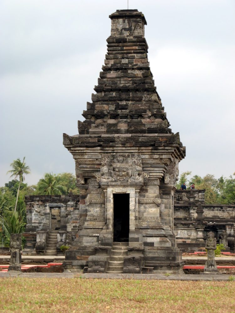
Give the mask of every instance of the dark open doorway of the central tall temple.
<svg viewBox="0 0 235 313">
<path fill-rule="evenodd" d="M 113 194 L 113 241 L 129 241 L 129 193 Z"/>
</svg>

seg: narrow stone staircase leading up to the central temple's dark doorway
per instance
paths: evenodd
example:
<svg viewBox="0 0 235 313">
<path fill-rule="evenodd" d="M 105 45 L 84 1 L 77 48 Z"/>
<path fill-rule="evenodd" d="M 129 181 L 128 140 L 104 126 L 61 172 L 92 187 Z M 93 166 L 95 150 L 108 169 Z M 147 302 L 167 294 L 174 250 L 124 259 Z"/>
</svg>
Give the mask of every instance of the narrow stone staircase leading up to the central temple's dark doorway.
<svg viewBox="0 0 235 313">
<path fill-rule="evenodd" d="M 108 261 L 106 273 L 120 274 L 123 273 L 123 260 L 127 255 L 128 242 L 114 242 L 112 246 L 112 254 Z"/>
</svg>

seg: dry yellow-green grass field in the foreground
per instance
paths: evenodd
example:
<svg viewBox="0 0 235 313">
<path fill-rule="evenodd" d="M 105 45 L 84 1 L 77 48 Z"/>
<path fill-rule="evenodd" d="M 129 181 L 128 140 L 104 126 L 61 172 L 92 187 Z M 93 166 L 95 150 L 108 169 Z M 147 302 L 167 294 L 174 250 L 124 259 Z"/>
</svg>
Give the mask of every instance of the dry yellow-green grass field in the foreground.
<svg viewBox="0 0 235 313">
<path fill-rule="evenodd" d="M 0 312 L 235 312 L 235 281 L 0 279 Z"/>
</svg>

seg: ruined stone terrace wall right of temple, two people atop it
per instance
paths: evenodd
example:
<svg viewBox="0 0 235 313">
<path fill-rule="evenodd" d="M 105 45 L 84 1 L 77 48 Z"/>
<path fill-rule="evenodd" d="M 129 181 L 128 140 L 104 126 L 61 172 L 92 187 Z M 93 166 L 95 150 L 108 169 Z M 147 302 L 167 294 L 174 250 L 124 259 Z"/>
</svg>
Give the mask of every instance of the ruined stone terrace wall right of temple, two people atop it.
<svg viewBox="0 0 235 313">
<path fill-rule="evenodd" d="M 185 252 L 205 250 L 207 233 L 217 243 L 223 230 L 227 250 L 234 251 L 235 205 L 205 204 L 205 190 L 177 190 L 174 200 L 174 234 L 177 246 Z"/>
</svg>

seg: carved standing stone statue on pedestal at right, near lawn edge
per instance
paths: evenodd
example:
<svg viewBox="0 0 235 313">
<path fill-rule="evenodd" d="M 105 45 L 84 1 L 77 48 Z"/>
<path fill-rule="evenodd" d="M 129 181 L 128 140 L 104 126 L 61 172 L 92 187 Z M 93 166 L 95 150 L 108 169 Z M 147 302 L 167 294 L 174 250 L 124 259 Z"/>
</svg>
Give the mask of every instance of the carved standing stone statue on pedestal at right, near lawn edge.
<svg viewBox="0 0 235 313">
<path fill-rule="evenodd" d="M 206 249 L 207 261 L 204 272 L 217 272 L 217 266 L 215 262 L 216 238 L 213 232 L 208 233 L 208 238 L 206 239 Z"/>
</svg>

